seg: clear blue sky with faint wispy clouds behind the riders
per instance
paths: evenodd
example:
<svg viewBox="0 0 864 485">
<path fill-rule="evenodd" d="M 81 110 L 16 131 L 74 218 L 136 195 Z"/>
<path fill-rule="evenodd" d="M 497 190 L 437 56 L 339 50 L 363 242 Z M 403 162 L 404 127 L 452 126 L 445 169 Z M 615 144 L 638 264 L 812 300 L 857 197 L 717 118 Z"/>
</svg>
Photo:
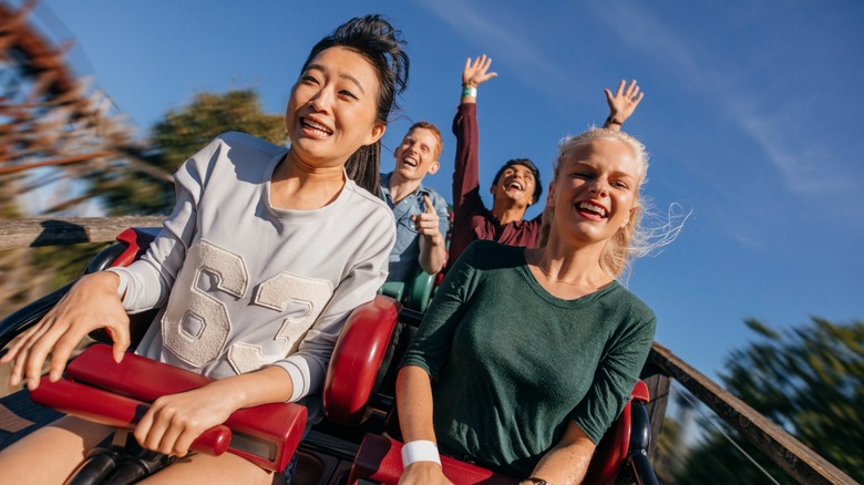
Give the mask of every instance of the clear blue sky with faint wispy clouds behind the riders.
<svg viewBox="0 0 864 485">
<path fill-rule="evenodd" d="M 514 157 L 547 182 L 557 141 L 606 117 L 603 89 L 639 81 L 626 130 L 651 152 L 645 194 L 661 216 L 692 215 L 629 287 L 656 311 L 657 340 L 703 373 L 748 342 L 747 318 L 864 318 L 864 3 L 43 0 L 37 19 L 75 40 L 70 63 L 143 137 L 204 91 L 253 87 L 281 113 L 311 45 L 368 12 L 388 16 L 411 55 L 385 145 L 414 121 L 438 124 L 442 169 L 428 185 L 448 198 L 465 58 L 486 53 L 498 73 L 479 93 L 483 186 Z"/>
</svg>

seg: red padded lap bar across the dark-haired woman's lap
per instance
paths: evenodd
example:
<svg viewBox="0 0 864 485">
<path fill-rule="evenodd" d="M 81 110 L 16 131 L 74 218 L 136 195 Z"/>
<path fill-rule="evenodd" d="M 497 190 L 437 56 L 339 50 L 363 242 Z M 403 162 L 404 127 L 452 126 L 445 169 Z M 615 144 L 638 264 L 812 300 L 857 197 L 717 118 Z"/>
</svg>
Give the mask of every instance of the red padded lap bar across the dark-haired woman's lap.
<svg viewBox="0 0 864 485">
<path fill-rule="evenodd" d="M 66 368 L 66 379 L 73 382 L 61 380 L 51 383 L 42 380 L 32 393 L 33 401 L 83 417 L 93 417 L 93 414 L 99 413 L 110 420 L 119 420 L 123 426 L 131 423 L 127 401 L 148 403 L 162 395 L 200 388 L 212 381 L 195 372 L 133 353 L 127 353 L 121 363 L 116 363 L 111 347 L 104 344 L 92 345 L 75 358 Z M 52 392 L 58 390 L 58 385 L 62 386 L 63 392 L 59 396 Z M 91 390 L 94 388 L 110 392 L 93 394 Z M 42 402 L 42 399 L 47 401 Z M 135 412 L 140 413 L 140 417 L 141 411 Z M 306 407 L 292 403 L 238 410 L 225 422 L 232 431 L 227 451 L 265 469 L 280 472 L 297 450 L 306 426 Z"/>
</svg>

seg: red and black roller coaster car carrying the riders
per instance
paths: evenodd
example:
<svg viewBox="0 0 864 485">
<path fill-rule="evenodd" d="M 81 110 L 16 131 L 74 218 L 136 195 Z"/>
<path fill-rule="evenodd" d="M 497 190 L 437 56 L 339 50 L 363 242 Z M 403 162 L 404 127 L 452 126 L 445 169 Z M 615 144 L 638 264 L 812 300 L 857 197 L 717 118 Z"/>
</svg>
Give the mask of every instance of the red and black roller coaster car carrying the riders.
<svg viewBox="0 0 864 485">
<path fill-rule="evenodd" d="M 143 254 L 155 234 L 155 229 L 125 230 L 117 237 L 117 245 L 104 249 L 91 261 L 86 272 L 131 264 Z M 70 286 L 1 321 L 0 349 L 38 322 Z M 133 316 L 133 341 L 136 334 L 143 336 L 153 314 Z M 224 425 L 214 426 L 199 436 L 194 450 L 216 455 L 234 453 L 276 472 L 285 469 L 297 453 L 295 485 L 395 484 L 402 472 L 402 443 L 393 437 L 399 436 L 398 426 L 393 430 L 392 425 L 397 420 L 389 416 L 394 410 L 395 368 L 420 320 L 421 312 L 403 309 L 384 296 L 377 296 L 352 312 L 336 343 L 327 372 L 322 392 L 326 417 L 312 426 L 306 437 L 302 437 L 306 407 L 275 403 L 235 412 Z M 102 331 L 93 332 L 91 337 L 110 342 Z M 132 483 L 165 463 L 152 465 L 152 460 L 141 458 L 140 452 L 135 456 L 127 455 L 124 447 L 127 430 L 160 395 L 207 382 L 209 378 L 132 353 L 117 364 L 111 357 L 111 348 L 97 343 L 73 359 L 60 381 L 42 380 L 31 399 L 38 404 L 117 427 L 113 448 L 91 453 L 74 483 L 122 483 L 116 478 Z M 21 393 L 25 391 L 3 398 L 3 404 L 14 410 L 9 398 Z M 647 402 L 647 386 L 638 382 L 629 404 L 598 444 L 584 483 L 657 483 L 648 460 Z M 40 424 L 44 423 L 31 427 Z M 444 474 L 456 485 L 517 482 L 448 456 L 442 456 L 442 465 Z"/>
</svg>

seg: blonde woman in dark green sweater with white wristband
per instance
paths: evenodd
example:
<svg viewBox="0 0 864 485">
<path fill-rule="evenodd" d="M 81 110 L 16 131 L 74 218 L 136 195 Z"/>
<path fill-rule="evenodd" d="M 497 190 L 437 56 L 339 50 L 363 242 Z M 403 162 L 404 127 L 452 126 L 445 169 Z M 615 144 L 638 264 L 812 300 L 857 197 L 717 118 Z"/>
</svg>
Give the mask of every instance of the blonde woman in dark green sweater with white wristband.
<svg viewBox="0 0 864 485">
<path fill-rule="evenodd" d="M 565 138 L 541 246 L 481 240 L 463 252 L 397 380 L 400 483 L 448 483 L 439 448 L 526 485 L 582 482 L 654 340 L 654 312 L 618 282 L 650 246 L 647 168 L 620 131 Z"/>
</svg>

